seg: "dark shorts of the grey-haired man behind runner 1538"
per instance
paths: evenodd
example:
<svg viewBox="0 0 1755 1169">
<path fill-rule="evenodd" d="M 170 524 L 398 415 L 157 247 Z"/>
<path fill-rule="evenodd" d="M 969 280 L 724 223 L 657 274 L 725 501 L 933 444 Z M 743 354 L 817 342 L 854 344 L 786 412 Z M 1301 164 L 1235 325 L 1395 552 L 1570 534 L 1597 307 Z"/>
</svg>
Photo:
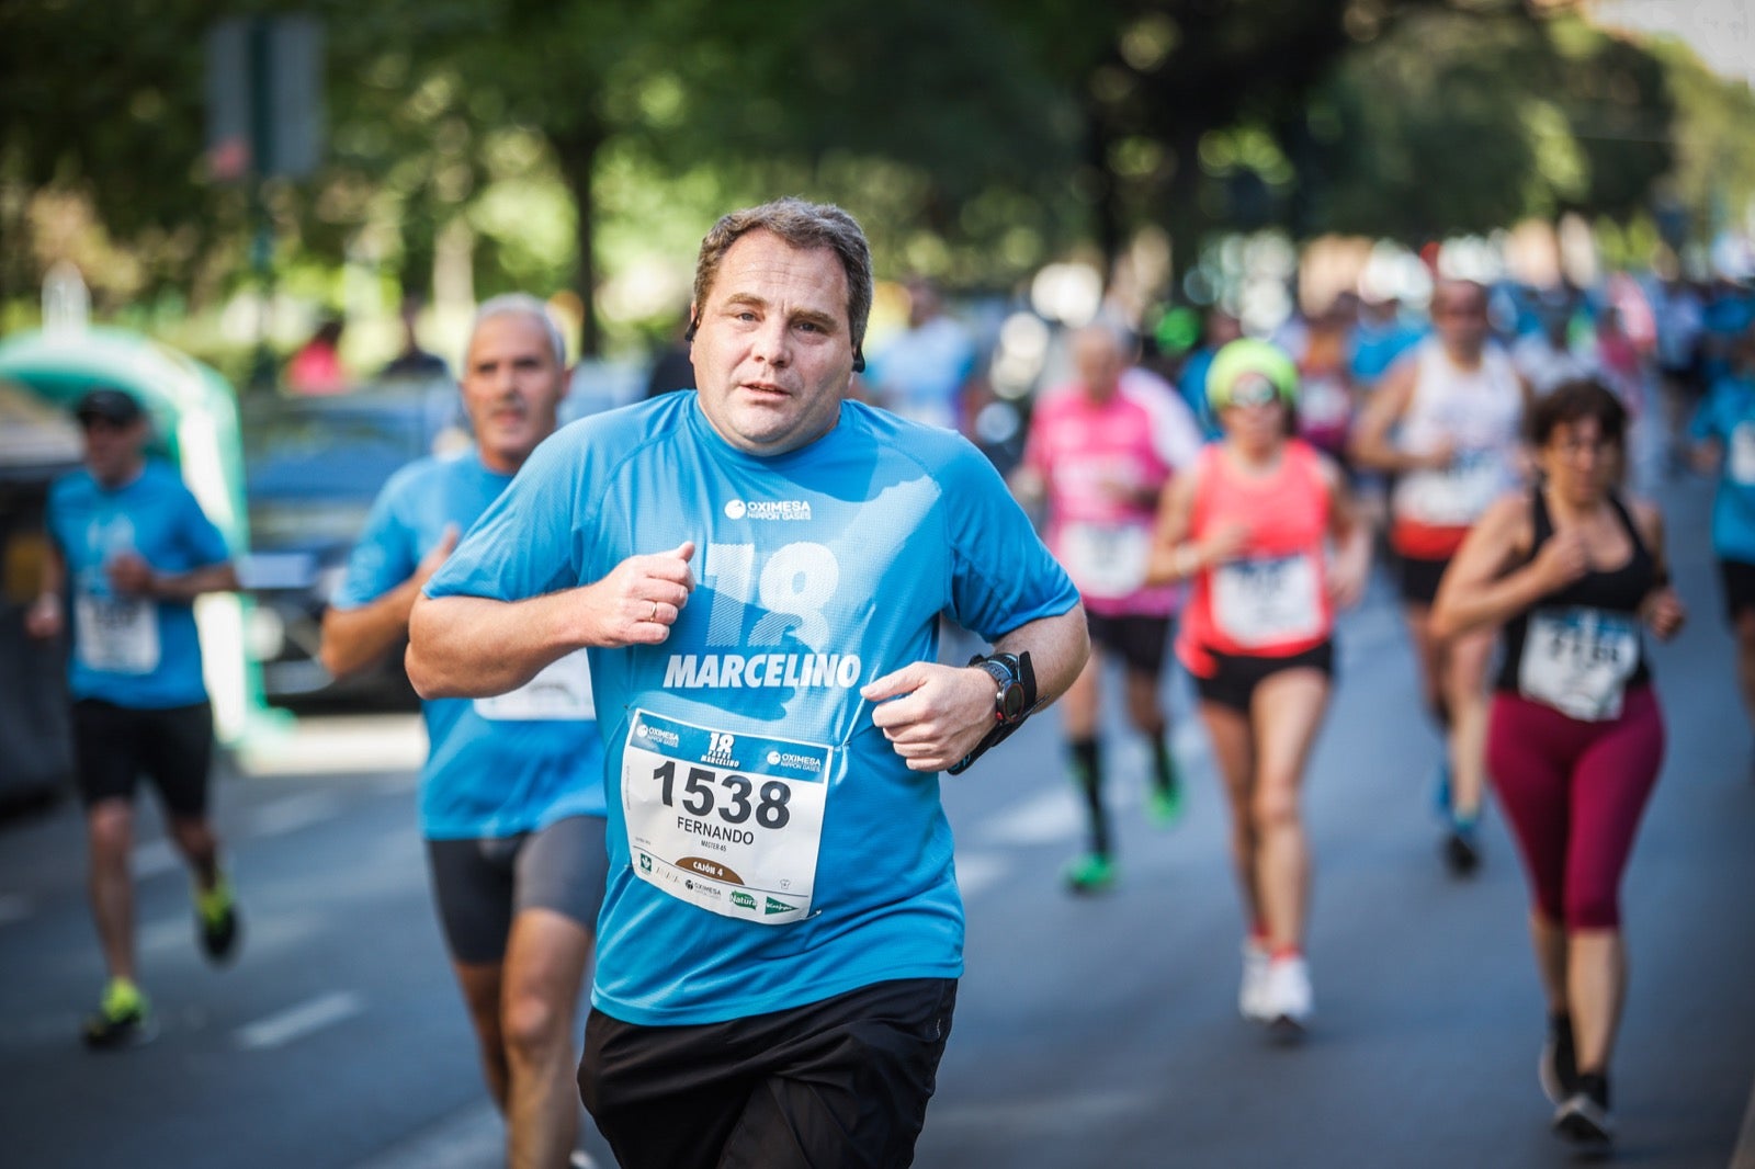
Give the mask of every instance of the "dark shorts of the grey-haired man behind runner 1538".
<svg viewBox="0 0 1755 1169">
<path fill-rule="evenodd" d="M 567 816 L 539 832 L 465 841 L 426 841 L 433 902 L 456 962 L 505 958 L 512 918 L 553 909 L 597 930 L 609 853 L 602 816 Z"/>
</svg>

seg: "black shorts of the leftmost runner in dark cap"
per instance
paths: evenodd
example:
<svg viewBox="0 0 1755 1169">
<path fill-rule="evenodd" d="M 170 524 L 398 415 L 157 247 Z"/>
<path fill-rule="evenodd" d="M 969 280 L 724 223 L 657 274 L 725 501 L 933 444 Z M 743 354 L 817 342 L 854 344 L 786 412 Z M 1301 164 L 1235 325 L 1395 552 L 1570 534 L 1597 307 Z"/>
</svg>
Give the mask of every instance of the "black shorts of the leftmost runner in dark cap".
<svg viewBox="0 0 1755 1169">
<path fill-rule="evenodd" d="M 165 811 L 179 820 L 207 814 L 207 771 L 214 758 L 214 714 L 207 702 L 137 709 L 100 699 L 74 702 L 74 767 L 86 807 L 132 800 L 144 774 Z"/>
</svg>

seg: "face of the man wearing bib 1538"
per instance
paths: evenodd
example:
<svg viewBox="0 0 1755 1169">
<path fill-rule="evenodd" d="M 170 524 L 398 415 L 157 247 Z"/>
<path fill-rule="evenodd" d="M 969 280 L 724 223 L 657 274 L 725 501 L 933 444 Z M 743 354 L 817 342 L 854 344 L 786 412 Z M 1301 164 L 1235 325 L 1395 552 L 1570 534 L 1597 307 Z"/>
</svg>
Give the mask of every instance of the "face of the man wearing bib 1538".
<svg viewBox="0 0 1755 1169">
<path fill-rule="evenodd" d="M 749 232 L 693 312 L 700 409 L 721 439 L 783 455 L 828 434 L 853 377 L 848 274 L 834 249 Z"/>
</svg>

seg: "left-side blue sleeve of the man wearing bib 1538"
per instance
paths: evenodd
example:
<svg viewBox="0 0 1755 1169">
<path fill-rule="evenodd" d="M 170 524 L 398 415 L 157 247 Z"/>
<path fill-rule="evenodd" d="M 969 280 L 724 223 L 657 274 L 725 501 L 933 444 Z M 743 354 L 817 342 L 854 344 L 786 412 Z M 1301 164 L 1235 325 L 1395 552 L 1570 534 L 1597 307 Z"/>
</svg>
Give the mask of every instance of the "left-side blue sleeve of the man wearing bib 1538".
<svg viewBox="0 0 1755 1169">
<path fill-rule="evenodd" d="M 574 513 L 590 497 L 579 488 L 584 442 L 570 430 L 530 455 L 426 581 L 428 597 L 526 600 L 584 583 L 579 541 L 591 518 Z"/>
</svg>

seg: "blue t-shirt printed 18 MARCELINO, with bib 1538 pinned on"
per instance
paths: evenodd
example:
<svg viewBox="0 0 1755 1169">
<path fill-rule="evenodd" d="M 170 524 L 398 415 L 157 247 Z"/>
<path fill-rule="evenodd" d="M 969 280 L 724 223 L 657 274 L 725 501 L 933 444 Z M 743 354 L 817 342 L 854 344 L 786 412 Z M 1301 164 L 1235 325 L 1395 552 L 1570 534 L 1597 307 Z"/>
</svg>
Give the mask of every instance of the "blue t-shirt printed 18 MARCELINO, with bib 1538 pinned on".
<svg viewBox="0 0 1755 1169">
<path fill-rule="evenodd" d="M 953 432 L 849 402 L 756 456 L 683 391 L 537 448 L 426 593 L 537 597 L 684 541 L 697 588 L 669 639 L 590 651 L 616 785 L 593 1004 L 709 1023 L 956 978 L 939 776 L 860 686 L 934 662 L 941 613 L 993 639 L 1071 611 L 1072 581 Z"/>
</svg>

